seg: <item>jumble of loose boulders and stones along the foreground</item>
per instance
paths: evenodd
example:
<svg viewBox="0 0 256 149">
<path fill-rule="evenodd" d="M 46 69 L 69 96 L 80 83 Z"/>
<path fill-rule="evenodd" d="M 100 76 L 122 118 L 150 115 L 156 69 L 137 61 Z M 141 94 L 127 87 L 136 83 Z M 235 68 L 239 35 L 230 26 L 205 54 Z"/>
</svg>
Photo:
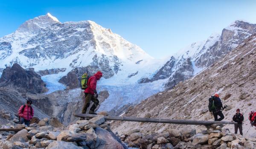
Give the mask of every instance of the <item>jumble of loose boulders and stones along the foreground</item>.
<svg viewBox="0 0 256 149">
<path fill-rule="evenodd" d="M 44 118 L 30 127 L 2 125 L 0 128 L 23 128 L 17 133 L 0 132 L 1 149 L 255 149 L 256 138 L 243 137 L 212 124 L 201 132 L 187 126 L 162 133 L 143 135 L 140 129 L 114 134 L 103 115 L 77 120 L 65 127 L 57 119 Z"/>
</svg>

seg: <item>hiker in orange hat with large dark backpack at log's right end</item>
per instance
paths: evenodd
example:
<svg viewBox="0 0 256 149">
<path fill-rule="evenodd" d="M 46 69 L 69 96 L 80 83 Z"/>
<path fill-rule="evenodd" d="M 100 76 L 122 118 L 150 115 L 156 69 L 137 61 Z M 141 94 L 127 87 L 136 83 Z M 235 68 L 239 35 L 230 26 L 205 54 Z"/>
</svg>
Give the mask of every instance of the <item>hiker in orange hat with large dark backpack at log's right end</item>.
<svg viewBox="0 0 256 149">
<path fill-rule="evenodd" d="M 219 98 L 218 94 L 215 94 L 209 98 L 208 108 L 211 115 L 213 114 L 214 116 L 214 121 L 221 121 L 224 119 L 224 115 L 221 112 L 222 107 L 221 99 Z M 220 118 L 218 118 L 218 116 L 220 116 Z"/>
</svg>

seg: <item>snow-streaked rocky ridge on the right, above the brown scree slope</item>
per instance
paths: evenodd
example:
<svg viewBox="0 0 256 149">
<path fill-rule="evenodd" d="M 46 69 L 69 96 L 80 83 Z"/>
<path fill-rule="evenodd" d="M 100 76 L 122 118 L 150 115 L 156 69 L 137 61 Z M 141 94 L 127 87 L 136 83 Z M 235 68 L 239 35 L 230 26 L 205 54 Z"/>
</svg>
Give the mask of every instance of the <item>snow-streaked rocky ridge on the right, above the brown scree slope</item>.
<svg viewBox="0 0 256 149">
<path fill-rule="evenodd" d="M 211 66 L 255 32 L 256 24 L 237 20 L 224 28 L 221 34 L 212 34 L 207 40 L 181 49 L 152 77 L 140 79 L 140 83 L 169 78 L 166 88 L 172 88 Z"/>
</svg>

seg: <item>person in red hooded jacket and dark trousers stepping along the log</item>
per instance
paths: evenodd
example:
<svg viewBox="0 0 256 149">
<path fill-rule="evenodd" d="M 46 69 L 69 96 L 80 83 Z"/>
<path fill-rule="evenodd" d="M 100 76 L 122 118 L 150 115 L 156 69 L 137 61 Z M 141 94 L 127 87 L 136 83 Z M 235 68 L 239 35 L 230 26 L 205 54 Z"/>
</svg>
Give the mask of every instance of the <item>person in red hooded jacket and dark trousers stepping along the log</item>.
<svg viewBox="0 0 256 149">
<path fill-rule="evenodd" d="M 99 80 L 101 77 L 102 77 L 102 72 L 99 71 L 88 79 L 88 82 L 87 82 L 88 87 L 84 90 L 85 103 L 82 109 L 82 113 L 84 114 L 86 113 L 87 108 L 90 106 L 90 101 L 92 100 L 93 106 L 90 108 L 89 114 L 96 115 L 94 110 L 99 105 L 99 100 L 97 99 L 98 93 L 96 91 L 96 86 L 97 86 L 97 80 Z"/>
</svg>

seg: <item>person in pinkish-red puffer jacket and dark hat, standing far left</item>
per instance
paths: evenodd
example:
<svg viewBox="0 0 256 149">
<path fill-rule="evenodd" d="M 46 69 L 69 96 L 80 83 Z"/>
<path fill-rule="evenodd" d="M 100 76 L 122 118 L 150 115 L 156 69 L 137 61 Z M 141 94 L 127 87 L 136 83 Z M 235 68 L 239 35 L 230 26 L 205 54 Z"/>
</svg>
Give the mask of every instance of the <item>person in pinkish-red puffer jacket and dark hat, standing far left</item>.
<svg viewBox="0 0 256 149">
<path fill-rule="evenodd" d="M 32 100 L 27 100 L 25 105 L 20 106 L 18 110 L 19 124 L 25 123 L 26 126 L 30 125 L 30 120 L 34 116 L 34 109 L 32 108 Z"/>
</svg>

